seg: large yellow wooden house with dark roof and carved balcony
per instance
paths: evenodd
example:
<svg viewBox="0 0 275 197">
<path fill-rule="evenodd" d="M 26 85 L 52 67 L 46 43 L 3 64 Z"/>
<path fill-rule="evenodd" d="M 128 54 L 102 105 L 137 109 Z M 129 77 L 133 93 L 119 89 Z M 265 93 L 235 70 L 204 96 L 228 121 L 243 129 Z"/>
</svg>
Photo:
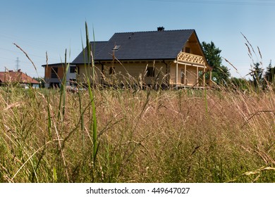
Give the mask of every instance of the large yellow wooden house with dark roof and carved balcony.
<svg viewBox="0 0 275 197">
<path fill-rule="evenodd" d="M 109 41 L 91 42 L 95 77 L 90 80 L 109 84 L 132 77 L 143 84 L 157 82 L 169 87 L 205 87 L 211 85 L 212 68 L 208 65 L 195 30 L 164 30 L 115 33 Z M 89 54 L 90 55 L 90 54 Z M 72 62 L 85 82 L 87 49 Z M 91 71 L 91 70 L 90 70 Z M 209 72 L 209 79 L 205 74 Z M 155 79 L 159 73 L 158 79 Z"/>
</svg>

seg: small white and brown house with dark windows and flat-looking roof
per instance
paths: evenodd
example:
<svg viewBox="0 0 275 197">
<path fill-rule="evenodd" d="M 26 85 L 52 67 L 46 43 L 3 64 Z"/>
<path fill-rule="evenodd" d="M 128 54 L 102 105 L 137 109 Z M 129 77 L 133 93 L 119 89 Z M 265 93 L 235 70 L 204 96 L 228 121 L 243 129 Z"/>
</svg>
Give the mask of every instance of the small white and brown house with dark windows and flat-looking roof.
<svg viewBox="0 0 275 197">
<path fill-rule="evenodd" d="M 63 63 L 54 63 L 49 65 L 42 65 L 45 70 L 45 87 L 60 87 L 63 77 L 65 75 L 66 66 Z M 76 80 L 76 66 L 70 65 L 66 75 L 66 84 Z"/>
</svg>

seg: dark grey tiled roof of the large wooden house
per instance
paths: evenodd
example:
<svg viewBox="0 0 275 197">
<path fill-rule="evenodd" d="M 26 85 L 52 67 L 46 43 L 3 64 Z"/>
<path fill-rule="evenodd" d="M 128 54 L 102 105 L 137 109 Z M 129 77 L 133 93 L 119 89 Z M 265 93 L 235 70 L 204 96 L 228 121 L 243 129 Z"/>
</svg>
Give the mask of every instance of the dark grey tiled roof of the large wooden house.
<svg viewBox="0 0 275 197">
<path fill-rule="evenodd" d="M 193 33 L 195 30 L 115 33 L 108 42 L 91 42 L 95 44 L 94 61 L 111 61 L 113 54 L 120 61 L 176 59 Z M 83 51 L 72 63 L 85 63 Z"/>
</svg>

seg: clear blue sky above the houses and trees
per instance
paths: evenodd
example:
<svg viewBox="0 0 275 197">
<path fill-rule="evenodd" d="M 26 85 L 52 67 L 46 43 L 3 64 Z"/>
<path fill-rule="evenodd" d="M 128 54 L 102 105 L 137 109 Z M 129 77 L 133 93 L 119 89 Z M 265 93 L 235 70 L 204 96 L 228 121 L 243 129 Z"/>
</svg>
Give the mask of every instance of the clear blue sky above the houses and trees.
<svg viewBox="0 0 275 197">
<path fill-rule="evenodd" d="M 275 1 L 256 0 L 3 0 L 0 7 L 0 71 L 5 67 L 19 68 L 37 77 L 35 68 L 25 55 L 13 45 L 18 44 L 44 77 L 41 65 L 64 61 L 67 49 L 71 61 L 82 50 L 85 21 L 92 28 L 96 41 L 106 41 L 115 32 L 195 29 L 200 42 L 214 42 L 221 56 L 238 69 L 226 65 L 231 75 L 244 77 L 252 60 L 247 55 L 245 39 L 255 48 L 254 61 L 262 61 L 264 68 L 270 60 L 275 65 Z M 85 41 L 84 41 L 85 42 Z M 262 53 L 262 59 L 257 52 Z"/>
</svg>

